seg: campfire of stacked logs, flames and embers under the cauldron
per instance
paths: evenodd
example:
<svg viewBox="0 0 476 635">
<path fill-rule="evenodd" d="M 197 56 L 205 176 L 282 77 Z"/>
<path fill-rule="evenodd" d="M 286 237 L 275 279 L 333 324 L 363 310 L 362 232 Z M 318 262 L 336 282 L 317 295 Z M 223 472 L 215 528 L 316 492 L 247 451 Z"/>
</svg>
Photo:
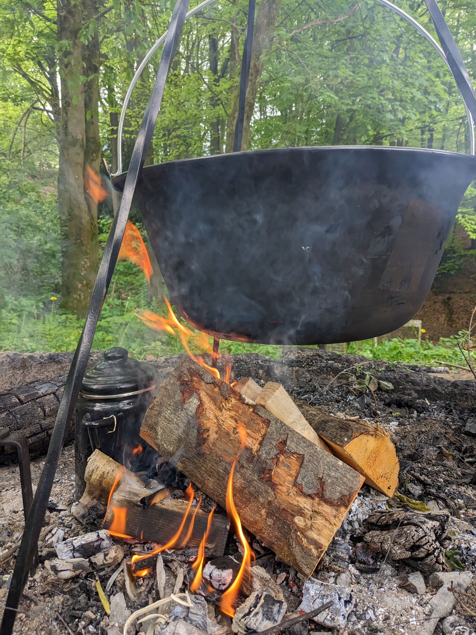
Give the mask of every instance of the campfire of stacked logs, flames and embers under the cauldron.
<svg viewBox="0 0 476 635">
<path fill-rule="evenodd" d="M 141 317 L 187 346 L 195 336 L 169 304 L 168 312 L 168 319 Z M 217 359 L 215 351 L 212 363 Z M 263 631 L 282 623 L 288 609 L 261 566 L 267 554 L 305 580 L 364 483 L 393 495 L 399 463 L 387 432 L 296 402 L 277 382 L 261 387 L 243 377 L 230 385 L 227 362 L 221 360 L 220 378 L 218 368 L 190 352 L 161 385 L 133 443 L 138 453 L 155 451 L 148 470 L 131 471 L 100 449 L 91 453 L 72 513 L 102 529 L 58 542 L 58 558 L 45 562 L 51 575 L 68 579 L 119 565 L 136 606 L 157 585 L 149 627 L 168 619 L 176 603 L 190 607 L 204 598 L 235 631 Z M 179 572 L 169 596 L 164 563 Z M 321 622 L 332 621 L 338 607 L 320 606 Z M 133 613 L 124 633 L 146 619 L 143 612 Z"/>
</svg>

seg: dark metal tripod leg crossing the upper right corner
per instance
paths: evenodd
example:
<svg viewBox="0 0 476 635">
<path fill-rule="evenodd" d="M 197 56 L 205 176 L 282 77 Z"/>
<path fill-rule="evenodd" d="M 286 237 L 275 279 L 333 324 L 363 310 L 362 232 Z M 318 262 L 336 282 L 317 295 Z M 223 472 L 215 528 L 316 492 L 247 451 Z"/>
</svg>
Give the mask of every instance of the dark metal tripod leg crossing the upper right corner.
<svg viewBox="0 0 476 635">
<path fill-rule="evenodd" d="M 476 121 L 476 94 L 474 86 L 465 67 L 465 62 L 458 51 L 458 46 L 449 30 L 445 18 L 443 17 L 436 0 L 425 0 L 426 8 L 430 11 L 433 25 L 437 32 L 441 48 L 444 50 L 449 68 L 453 73 L 454 81 L 458 84 L 459 92 L 470 110 L 473 121 Z"/>
</svg>

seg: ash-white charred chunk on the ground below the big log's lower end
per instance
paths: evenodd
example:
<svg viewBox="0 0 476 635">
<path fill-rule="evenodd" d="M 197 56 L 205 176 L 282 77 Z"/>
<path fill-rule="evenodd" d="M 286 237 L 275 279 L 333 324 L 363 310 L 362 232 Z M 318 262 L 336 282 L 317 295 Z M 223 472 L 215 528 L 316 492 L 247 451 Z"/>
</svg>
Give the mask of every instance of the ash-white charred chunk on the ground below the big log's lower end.
<svg viewBox="0 0 476 635">
<path fill-rule="evenodd" d="M 347 618 L 354 608 L 354 594 L 337 584 L 327 584 L 315 578 L 306 580 L 303 586 L 303 600 L 298 610 L 308 613 L 326 602 L 333 602 L 333 605 L 316 615 L 313 620 L 322 626 L 345 629 Z"/>
</svg>

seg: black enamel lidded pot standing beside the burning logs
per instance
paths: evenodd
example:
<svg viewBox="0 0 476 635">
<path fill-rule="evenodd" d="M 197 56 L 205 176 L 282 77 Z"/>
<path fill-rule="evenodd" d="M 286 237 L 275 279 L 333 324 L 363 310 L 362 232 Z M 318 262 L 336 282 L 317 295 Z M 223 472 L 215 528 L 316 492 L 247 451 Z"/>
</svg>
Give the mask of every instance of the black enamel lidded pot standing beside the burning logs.
<svg viewBox="0 0 476 635">
<path fill-rule="evenodd" d="M 84 492 L 84 471 L 94 450 L 128 469 L 149 467 L 150 448 L 139 438 L 140 425 L 156 392 L 154 368 L 114 347 L 84 375 L 75 411 L 76 497 Z"/>
</svg>

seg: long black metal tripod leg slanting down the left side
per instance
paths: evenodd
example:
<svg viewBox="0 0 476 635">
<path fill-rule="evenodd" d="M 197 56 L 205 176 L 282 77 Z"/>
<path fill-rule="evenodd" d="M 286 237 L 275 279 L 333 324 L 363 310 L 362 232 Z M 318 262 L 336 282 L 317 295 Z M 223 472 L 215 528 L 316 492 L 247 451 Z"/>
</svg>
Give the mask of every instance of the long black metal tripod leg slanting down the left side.
<svg viewBox="0 0 476 635">
<path fill-rule="evenodd" d="M 81 337 L 79 338 L 79 343 L 68 373 L 65 392 L 56 417 L 50 447 L 48 448 L 48 455 L 46 455 L 46 461 L 39 478 L 32 508 L 25 523 L 25 531 L 23 531 L 22 543 L 20 544 L 17 562 L 15 563 L 15 569 L 13 570 L 13 576 L 11 578 L 10 590 L 8 591 L 6 599 L 6 606 L 0 627 L 1 635 L 11 635 L 13 631 L 18 604 L 20 603 L 28 572 L 32 565 L 41 526 L 43 525 L 46 505 L 48 505 L 48 498 L 50 498 L 51 486 L 53 485 L 56 466 L 58 465 L 58 459 L 60 458 L 60 452 L 63 447 L 66 426 L 74 413 L 76 399 L 81 383 L 83 382 L 89 352 L 93 344 L 96 324 L 112 278 L 112 272 L 116 265 L 117 255 L 121 248 L 122 237 L 126 229 L 126 222 L 128 220 L 136 182 L 142 170 L 152 134 L 154 133 L 155 121 L 159 114 L 162 95 L 164 93 L 164 84 L 176 51 L 178 39 L 182 32 L 187 7 L 188 0 L 178 0 L 173 10 L 168 35 L 162 50 L 161 61 L 157 69 L 157 76 L 155 77 L 152 95 L 145 109 L 134 145 L 131 163 L 124 184 L 121 206 L 119 207 L 116 218 L 114 218 L 107 238 L 98 276 L 96 277 L 91 295 L 91 301 L 89 302 L 88 315 L 84 323 L 83 333 L 81 333 Z"/>
</svg>

